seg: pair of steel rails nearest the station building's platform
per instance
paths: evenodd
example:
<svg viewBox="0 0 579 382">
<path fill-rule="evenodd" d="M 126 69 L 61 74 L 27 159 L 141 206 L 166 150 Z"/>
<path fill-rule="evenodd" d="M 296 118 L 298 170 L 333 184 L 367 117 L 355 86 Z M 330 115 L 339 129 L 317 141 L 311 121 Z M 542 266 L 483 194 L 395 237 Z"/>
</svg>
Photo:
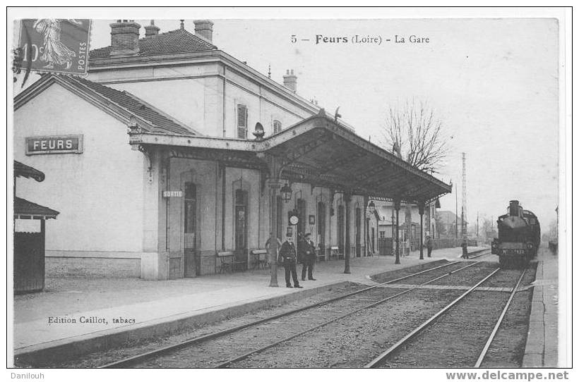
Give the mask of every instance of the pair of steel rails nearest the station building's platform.
<svg viewBox="0 0 579 382">
<path fill-rule="evenodd" d="M 338 315 L 338 317 L 334 316 L 333 319 L 329 319 L 327 321 L 324 321 L 323 323 L 318 324 L 318 325 L 314 326 L 313 328 L 309 328 L 308 330 L 302 331 L 300 333 L 294 333 L 293 335 L 290 335 L 289 337 L 286 337 L 286 338 L 283 338 L 282 340 L 276 341 L 275 344 L 268 344 L 268 345 L 265 345 L 263 347 L 260 347 L 257 350 L 257 352 L 263 351 L 269 347 L 273 347 L 273 346 L 275 346 L 279 343 L 282 343 L 284 341 L 287 341 L 291 338 L 295 338 L 299 335 L 302 335 L 303 333 L 306 333 L 308 331 L 313 331 L 316 328 L 319 328 L 321 326 L 325 326 L 327 324 L 330 324 L 331 322 L 338 321 L 338 319 L 342 319 L 345 316 L 348 316 L 350 314 L 354 314 L 354 313 L 359 312 L 360 310 L 363 310 L 363 309 L 368 309 L 369 307 L 376 306 L 377 304 L 381 304 L 383 302 L 386 302 L 387 300 L 391 300 L 395 297 L 405 295 L 407 292 L 414 290 L 414 288 L 412 288 L 410 290 L 403 290 L 402 292 L 395 293 L 395 295 L 388 296 L 386 298 L 383 298 L 383 295 L 381 295 L 382 298 L 379 298 L 378 301 L 376 301 L 375 295 L 376 294 L 380 295 L 381 293 L 383 293 L 380 290 L 381 287 L 384 287 L 390 283 L 397 283 L 398 281 L 402 281 L 402 280 L 405 280 L 405 281 L 414 280 L 414 283 L 419 283 L 419 285 L 426 285 L 427 283 L 432 283 L 432 282 L 437 281 L 443 277 L 450 276 L 455 272 L 461 271 L 462 269 L 468 269 L 471 266 L 474 266 L 474 265 L 479 264 L 479 263 L 478 262 L 472 262 L 471 264 L 468 264 L 467 266 L 463 266 L 464 264 L 465 264 L 465 262 L 462 262 L 462 261 L 452 261 L 448 264 L 443 264 L 442 266 L 435 266 L 433 268 L 426 269 L 424 271 L 419 271 L 419 272 L 412 273 L 412 274 L 407 275 L 407 276 L 402 276 L 400 278 L 395 278 L 393 280 L 385 281 L 383 283 L 378 283 L 376 285 L 372 285 L 371 287 L 364 288 L 362 290 L 357 290 L 354 292 L 347 293 L 345 295 L 341 295 L 338 297 L 333 297 L 333 298 L 328 299 L 328 300 L 324 300 L 322 302 L 310 304 L 310 305 L 307 305 L 305 307 L 299 307 L 298 309 L 292 309 L 288 312 L 283 312 L 283 313 L 275 314 L 273 316 L 269 316 L 269 317 L 266 317 L 263 319 L 251 321 L 249 323 L 235 326 L 233 328 L 228 328 L 228 329 L 225 329 L 223 331 L 217 331 L 215 333 L 210 333 L 207 335 L 201 335 L 201 336 L 196 337 L 196 338 L 190 338 L 189 340 L 184 340 L 180 343 L 168 345 L 166 347 L 161 347 L 159 349 L 152 350 L 150 352 L 144 352 L 140 355 L 135 355 L 133 357 L 128 357 L 126 359 L 121 359 L 117 362 L 105 364 L 105 365 L 100 366 L 100 367 L 102 367 L 102 368 L 124 368 L 124 367 L 135 366 L 136 364 L 142 364 L 143 362 L 146 362 L 150 359 L 162 357 L 162 356 L 167 355 L 169 353 L 176 352 L 177 350 L 185 349 L 186 347 L 191 347 L 194 345 L 200 345 L 202 343 L 207 343 L 208 341 L 216 340 L 217 338 L 223 338 L 226 335 L 231 335 L 233 333 L 242 331 L 246 328 L 259 326 L 261 324 L 268 324 L 268 323 L 271 323 L 273 321 L 280 320 L 286 316 L 291 316 L 294 314 L 298 314 L 299 312 L 304 312 L 308 309 L 326 307 L 326 309 L 328 310 L 329 309 L 328 306 L 334 302 L 342 302 L 343 300 L 349 299 L 349 297 L 355 298 L 355 300 L 353 302 L 350 301 L 350 300 L 352 300 L 350 298 L 346 305 L 347 305 L 347 307 L 351 307 L 352 304 L 355 304 L 355 305 L 357 305 L 357 307 L 355 307 L 354 309 L 350 308 L 350 310 L 347 312 L 347 314 L 341 314 L 343 312 L 343 309 L 346 309 L 346 307 L 338 307 L 337 310 L 340 311 L 340 314 Z M 450 267 L 450 271 L 448 271 L 449 267 Z M 453 269 L 455 267 L 458 267 L 458 268 Z M 422 280 L 420 280 L 420 279 L 423 278 L 424 276 L 426 276 L 426 273 L 442 273 L 442 274 L 436 276 L 435 278 L 431 278 L 429 281 L 422 282 Z M 369 292 L 371 293 L 371 295 L 369 297 L 364 297 L 364 298 L 361 297 L 363 294 L 368 294 Z M 376 292 L 378 292 L 378 293 L 376 293 Z M 249 355 L 254 354 L 254 353 L 256 353 L 256 350 L 252 350 L 251 352 L 246 352 L 246 353 L 244 353 L 244 355 L 241 355 L 239 357 L 235 357 L 234 360 L 229 359 L 229 360 L 227 360 L 227 362 L 222 362 L 218 366 L 227 366 L 236 360 L 243 359 L 243 358 L 248 357 Z"/>
</svg>

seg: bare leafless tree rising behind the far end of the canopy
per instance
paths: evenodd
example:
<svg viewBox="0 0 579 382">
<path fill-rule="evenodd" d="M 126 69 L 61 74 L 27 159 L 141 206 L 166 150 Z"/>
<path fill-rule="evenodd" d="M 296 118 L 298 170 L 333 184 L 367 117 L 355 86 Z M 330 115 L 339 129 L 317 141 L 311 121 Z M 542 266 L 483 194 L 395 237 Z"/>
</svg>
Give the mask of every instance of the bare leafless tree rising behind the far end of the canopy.
<svg viewBox="0 0 579 382">
<path fill-rule="evenodd" d="M 438 173 L 448 154 L 443 124 L 425 101 L 406 101 L 388 109 L 383 130 L 394 154 L 422 171 Z"/>
</svg>

